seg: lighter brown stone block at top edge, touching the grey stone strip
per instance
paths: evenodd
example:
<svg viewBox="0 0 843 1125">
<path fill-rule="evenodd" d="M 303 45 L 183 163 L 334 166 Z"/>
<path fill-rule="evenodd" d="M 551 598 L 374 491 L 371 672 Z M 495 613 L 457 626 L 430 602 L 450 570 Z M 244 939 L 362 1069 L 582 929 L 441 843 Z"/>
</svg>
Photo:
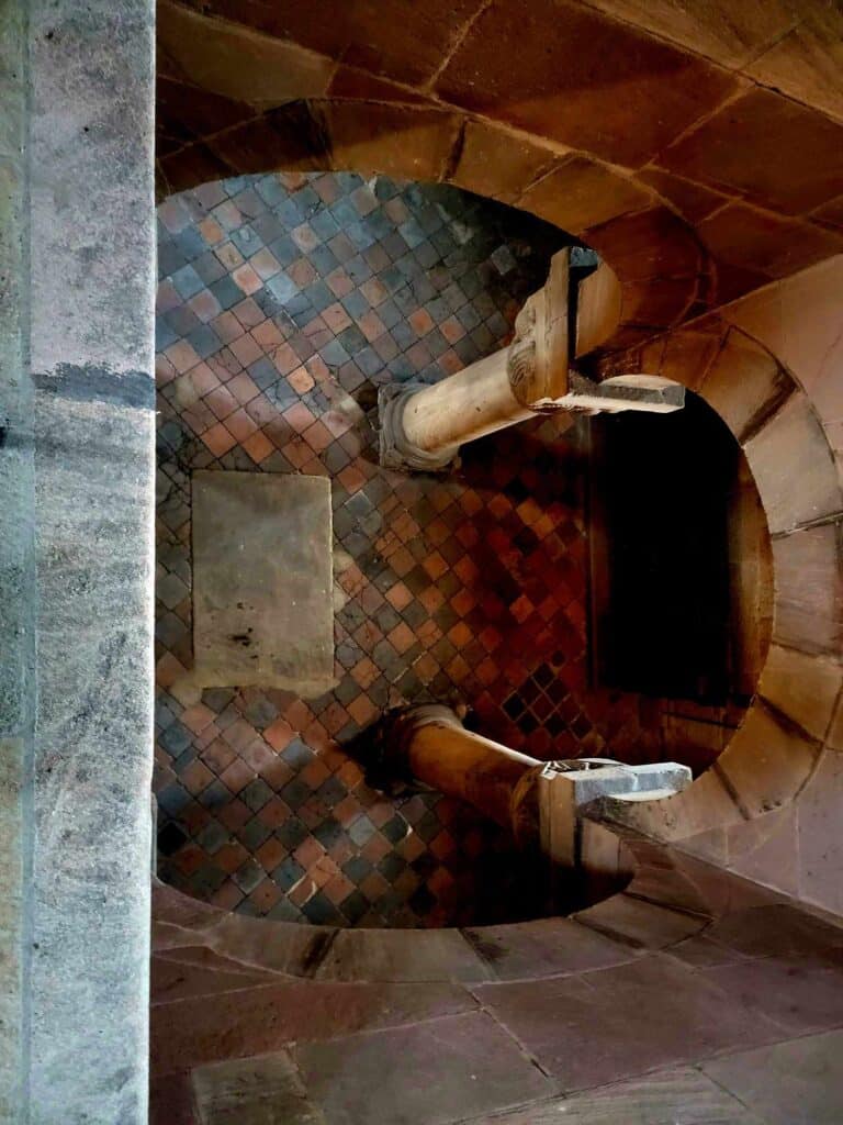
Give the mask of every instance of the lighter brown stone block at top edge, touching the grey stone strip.
<svg viewBox="0 0 843 1125">
<path fill-rule="evenodd" d="M 208 19 L 162 0 L 160 56 L 174 76 L 250 106 L 279 106 L 324 93 L 334 65 L 292 43 L 238 24 Z"/>
</svg>

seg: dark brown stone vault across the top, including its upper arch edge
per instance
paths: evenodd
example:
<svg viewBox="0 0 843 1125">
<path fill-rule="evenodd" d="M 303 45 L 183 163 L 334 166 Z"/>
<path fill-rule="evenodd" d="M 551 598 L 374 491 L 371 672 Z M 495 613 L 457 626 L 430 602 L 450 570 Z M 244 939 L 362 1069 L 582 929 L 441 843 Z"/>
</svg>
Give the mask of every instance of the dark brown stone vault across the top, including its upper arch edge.
<svg viewBox="0 0 843 1125">
<path fill-rule="evenodd" d="M 448 180 L 625 287 L 616 346 L 843 250 L 825 0 L 161 0 L 162 189 L 269 169 Z"/>
</svg>

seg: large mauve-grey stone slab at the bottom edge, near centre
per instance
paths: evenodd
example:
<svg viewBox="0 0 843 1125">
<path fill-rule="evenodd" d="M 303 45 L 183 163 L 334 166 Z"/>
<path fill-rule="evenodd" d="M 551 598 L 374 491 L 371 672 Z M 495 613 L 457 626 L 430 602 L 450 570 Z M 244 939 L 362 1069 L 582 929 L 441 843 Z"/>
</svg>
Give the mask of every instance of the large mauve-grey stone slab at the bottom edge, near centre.
<svg viewBox="0 0 843 1125">
<path fill-rule="evenodd" d="M 554 1092 L 487 1015 L 475 1012 L 296 1048 L 330 1125 L 445 1125 Z"/>
</svg>

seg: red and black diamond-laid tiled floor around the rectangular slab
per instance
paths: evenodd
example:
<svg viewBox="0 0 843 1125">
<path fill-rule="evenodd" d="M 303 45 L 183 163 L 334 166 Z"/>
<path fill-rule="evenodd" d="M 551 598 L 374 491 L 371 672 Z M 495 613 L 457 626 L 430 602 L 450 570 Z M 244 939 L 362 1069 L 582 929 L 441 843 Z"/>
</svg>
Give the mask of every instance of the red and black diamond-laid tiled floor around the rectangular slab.
<svg viewBox="0 0 843 1125">
<path fill-rule="evenodd" d="M 209 183 L 158 219 L 161 876 L 315 922 L 535 912 L 501 832 L 436 794 L 373 791 L 343 746 L 389 705 L 454 694 L 483 732 L 543 758 L 633 760 L 658 737 L 636 696 L 588 687 L 587 423 L 496 434 L 450 478 L 377 464 L 377 387 L 505 343 L 559 232 L 452 188 L 351 174 Z M 330 477 L 333 692 L 191 686 L 199 468 Z"/>
</svg>

